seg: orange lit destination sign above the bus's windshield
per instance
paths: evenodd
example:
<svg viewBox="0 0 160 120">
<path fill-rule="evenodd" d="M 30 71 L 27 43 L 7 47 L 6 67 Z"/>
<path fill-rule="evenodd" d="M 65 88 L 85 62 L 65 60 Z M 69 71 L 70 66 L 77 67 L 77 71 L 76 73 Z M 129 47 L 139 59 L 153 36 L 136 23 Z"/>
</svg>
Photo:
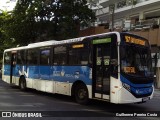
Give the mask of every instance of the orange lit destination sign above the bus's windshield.
<svg viewBox="0 0 160 120">
<path fill-rule="evenodd" d="M 134 38 L 131 36 L 125 36 L 125 40 L 127 43 L 133 43 L 133 44 L 137 44 L 137 45 L 143 45 L 145 46 L 145 41 L 139 38 Z"/>
</svg>

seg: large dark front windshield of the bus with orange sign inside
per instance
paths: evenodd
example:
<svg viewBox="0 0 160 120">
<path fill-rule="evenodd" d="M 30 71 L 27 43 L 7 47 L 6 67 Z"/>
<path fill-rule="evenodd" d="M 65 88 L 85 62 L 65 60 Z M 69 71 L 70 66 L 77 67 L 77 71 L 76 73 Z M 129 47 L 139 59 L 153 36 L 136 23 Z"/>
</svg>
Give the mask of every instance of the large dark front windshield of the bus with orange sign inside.
<svg viewBox="0 0 160 120">
<path fill-rule="evenodd" d="M 135 76 L 153 76 L 149 46 L 121 45 L 121 71 Z"/>
</svg>

